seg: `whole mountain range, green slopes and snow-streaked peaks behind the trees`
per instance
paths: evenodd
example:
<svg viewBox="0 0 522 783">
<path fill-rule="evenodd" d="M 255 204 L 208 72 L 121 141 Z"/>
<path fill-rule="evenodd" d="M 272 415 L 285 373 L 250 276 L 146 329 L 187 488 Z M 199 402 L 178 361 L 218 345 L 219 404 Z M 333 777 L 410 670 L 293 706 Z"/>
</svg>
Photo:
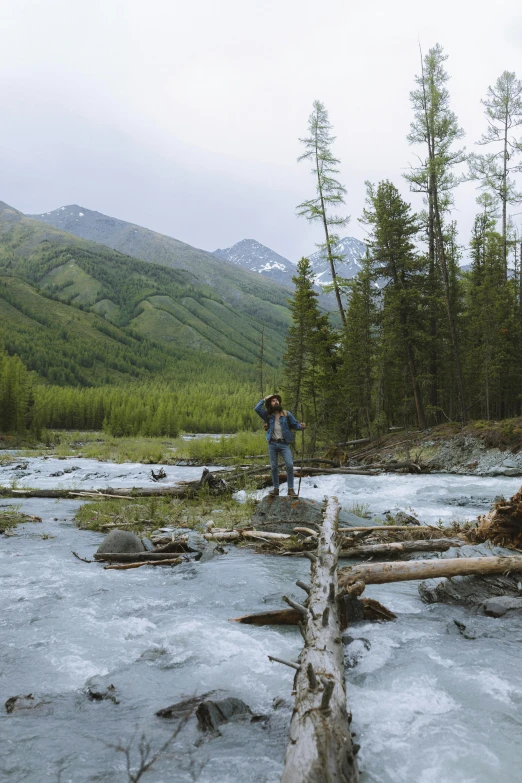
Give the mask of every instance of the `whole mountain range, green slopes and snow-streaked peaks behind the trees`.
<svg viewBox="0 0 522 783">
<path fill-rule="evenodd" d="M 365 246 L 343 239 L 351 277 Z M 317 290 L 330 280 L 312 254 Z M 342 268 L 341 268 L 342 267 Z M 52 383 L 280 366 L 296 264 L 253 239 L 209 253 L 76 204 L 23 215 L 0 202 L 4 345 Z M 329 297 L 321 297 L 329 308 Z M 203 363 L 202 363 L 203 362 Z M 169 369 L 170 368 L 170 369 Z M 225 370 L 223 370 L 225 371 Z"/>
</svg>

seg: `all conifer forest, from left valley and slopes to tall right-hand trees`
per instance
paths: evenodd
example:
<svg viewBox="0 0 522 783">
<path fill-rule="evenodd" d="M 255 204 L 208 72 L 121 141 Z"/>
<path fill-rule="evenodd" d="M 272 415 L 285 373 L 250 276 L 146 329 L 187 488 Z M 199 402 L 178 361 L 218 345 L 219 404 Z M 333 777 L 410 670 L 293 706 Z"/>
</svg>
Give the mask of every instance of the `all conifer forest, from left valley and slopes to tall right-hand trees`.
<svg viewBox="0 0 522 783">
<path fill-rule="evenodd" d="M 299 164 L 310 169 L 312 195 L 297 212 L 323 235 L 332 307 L 328 312 L 319 302 L 312 266 L 301 259 L 289 290 L 286 343 L 277 342 L 287 323 L 281 316 L 271 344 L 254 321 L 252 336 L 245 332 L 240 345 L 230 349 L 228 335 L 220 338 L 228 340 L 226 359 L 184 353 L 175 342 L 160 345 L 133 326 L 137 313 L 144 317 L 145 297 L 184 296 L 222 308 L 219 297 L 202 294 L 185 273 L 92 251 L 77 252 L 77 265 L 84 275 L 98 274 L 98 301 L 111 299 L 119 310 L 112 323 L 97 317 L 82 333 L 86 306 L 75 294 L 64 298 L 68 280 L 53 278 L 41 288 L 47 309 L 39 316 L 27 304 L 29 285 L 62 268 L 63 248 L 53 253 L 47 246 L 20 261 L 13 242 L 4 243 L 1 431 L 38 437 L 45 428 L 119 435 L 251 430 L 258 427 L 253 403 L 268 386 L 284 391 L 288 407 L 309 422 L 312 448 L 393 427 L 520 416 L 522 82 L 505 71 L 485 90 L 482 133 L 467 134 L 467 147 L 440 45 L 421 54 L 412 83 L 405 128 L 411 160 L 395 182 L 366 183 L 358 219 L 367 252 L 350 280 L 337 271 L 339 230 L 348 223 L 334 153 L 342 139 L 335 139 L 325 106 L 313 105 Z M 454 194 L 470 180 L 477 187 L 476 217 L 471 236 L 463 236 Z M 124 283 L 125 263 L 134 266 L 132 281 Z M 58 302 L 78 313 L 76 331 L 55 321 L 49 307 Z M 18 320 L 10 322 L 9 308 L 17 308 Z M 231 319 L 233 308 L 227 312 Z M 32 328 L 29 317 L 46 329 Z"/>
</svg>

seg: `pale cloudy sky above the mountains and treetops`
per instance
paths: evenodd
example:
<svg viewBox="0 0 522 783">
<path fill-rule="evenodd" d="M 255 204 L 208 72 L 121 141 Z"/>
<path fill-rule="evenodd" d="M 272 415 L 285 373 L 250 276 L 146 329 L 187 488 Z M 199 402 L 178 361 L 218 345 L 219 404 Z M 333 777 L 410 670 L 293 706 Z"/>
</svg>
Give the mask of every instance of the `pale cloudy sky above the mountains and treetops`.
<svg viewBox="0 0 522 783">
<path fill-rule="evenodd" d="M 207 250 L 251 237 L 297 259 L 319 238 L 295 216 L 313 192 L 296 159 L 319 99 L 346 233 L 363 239 L 364 181 L 408 192 L 419 41 L 449 55 L 470 149 L 488 85 L 522 78 L 520 0 L 2 0 L 0 200 L 76 203 Z M 462 242 L 475 196 L 457 192 Z"/>
</svg>

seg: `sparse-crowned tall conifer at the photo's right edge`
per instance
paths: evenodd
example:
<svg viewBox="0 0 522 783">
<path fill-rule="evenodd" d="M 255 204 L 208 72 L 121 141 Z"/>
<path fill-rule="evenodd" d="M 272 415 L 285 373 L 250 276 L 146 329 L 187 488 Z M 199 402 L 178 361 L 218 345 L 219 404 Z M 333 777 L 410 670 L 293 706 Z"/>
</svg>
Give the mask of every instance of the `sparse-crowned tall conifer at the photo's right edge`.
<svg viewBox="0 0 522 783">
<path fill-rule="evenodd" d="M 516 74 L 504 71 L 493 87 L 488 87 L 487 98 L 482 101 L 486 115 L 487 129 L 477 144 L 497 147 L 495 152 L 469 156 L 469 170 L 472 179 L 491 193 L 502 207 L 502 255 L 504 275 L 508 268 L 508 204 L 522 201 L 512 174 L 522 170 L 518 159 L 522 152 L 522 137 L 517 138 L 515 129 L 522 125 L 522 81 Z"/>
</svg>

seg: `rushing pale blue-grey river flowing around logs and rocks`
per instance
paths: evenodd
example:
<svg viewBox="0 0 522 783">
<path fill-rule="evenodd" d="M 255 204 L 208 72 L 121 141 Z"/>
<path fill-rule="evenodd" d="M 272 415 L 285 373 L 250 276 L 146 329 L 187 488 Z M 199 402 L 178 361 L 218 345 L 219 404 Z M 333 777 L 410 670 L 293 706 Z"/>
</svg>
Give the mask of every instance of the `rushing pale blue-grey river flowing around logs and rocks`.
<svg viewBox="0 0 522 783">
<path fill-rule="evenodd" d="M 15 470 L 0 466 L 1 484 L 90 489 L 150 481 L 150 467 L 143 465 L 52 458 L 18 464 Z M 76 469 L 64 472 L 70 468 Z M 165 470 L 167 481 L 201 473 Z M 367 505 L 379 515 L 411 509 L 424 522 L 447 522 L 474 518 L 496 496 L 509 497 L 519 487 L 520 479 L 504 477 L 331 475 L 303 479 L 301 494 L 337 495 L 345 508 Z M 20 510 L 38 514 L 43 523 L 0 538 L 0 702 L 32 693 L 39 703 L 13 714 L 1 707 L 2 780 L 124 783 L 124 756 L 113 746 L 134 737 L 134 751 L 143 733 L 159 747 L 173 722 L 157 718 L 158 709 L 216 691 L 242 699 L 268 720 L 231 723 L 222 736 L 198 742 L 191 718 L 142 780 L 278 781 L 293 677 L 267 656 L 295 658 L 301 638 L 293 628 L 255 628 L 228 619 L 277 608 L 283 593 L 298 596 L 293 585 L 306 578 L 308 563 L 227 547 L 227 554 L 202 564 L 105 571 L 71 554 L 90 557 L 103 538 L 74 526 L 79 503 L 23 501 Z M 417 586 L 367 588 L 398 619 L 350 631 L 364 640 L 346 648 L 355 664 L 347 670 L 347 691 L 361 745 L 361 780 L 518 780 L 522 621 L 426 606 Z M 466 626 L 465 635 L 455 620 Z M 118 703 L 90 700 L 89 684 L 114 685 Z"/>
</svg>

